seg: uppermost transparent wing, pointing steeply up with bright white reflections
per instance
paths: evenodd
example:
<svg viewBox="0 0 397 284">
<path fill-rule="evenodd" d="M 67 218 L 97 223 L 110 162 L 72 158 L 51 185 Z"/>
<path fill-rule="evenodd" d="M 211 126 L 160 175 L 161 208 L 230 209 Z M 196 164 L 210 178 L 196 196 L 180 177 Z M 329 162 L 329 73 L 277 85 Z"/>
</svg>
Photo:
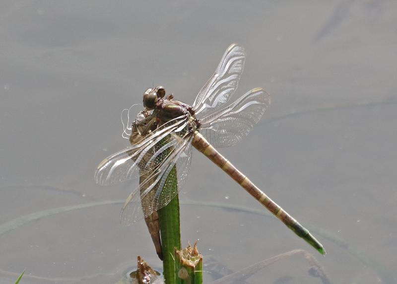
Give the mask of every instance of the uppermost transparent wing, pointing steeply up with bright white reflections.
<svg viewBox="0 0 397 284">
<path fill-rule="evenodd" d="M 243 47 L 232 44 L 227 48 L 215 72 L 201 88 L 193 103 L 198 118 L 215 112 L 229 100 L 237 89 L 244 62 Z"/>
</svg>

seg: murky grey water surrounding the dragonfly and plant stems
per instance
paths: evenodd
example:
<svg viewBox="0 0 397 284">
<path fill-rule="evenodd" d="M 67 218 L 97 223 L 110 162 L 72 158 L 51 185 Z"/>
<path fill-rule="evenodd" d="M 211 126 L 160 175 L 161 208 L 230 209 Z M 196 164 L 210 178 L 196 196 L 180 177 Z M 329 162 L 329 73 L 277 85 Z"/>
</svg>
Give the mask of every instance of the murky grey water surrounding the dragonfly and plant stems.
<svg viewBox="0 0 397 284">
<path fill-rule="evenodd" d="M 220 263 L 205 283 L 298 248 L 332 283 L 397 283 L 396 13 L 386 0 L 2 1 L 0 283 L 24 269 L 24 284 L 116 283 L 138 254 L 161 266 L 144 222 L 119 225 L 120 204 L 68 207 L 128 196 L 136 183 L 93 180 L 128 145 L 121 110 L 157 84 L 192 103 L 232 42 L 248 53 L 237 95 L 262 86 L 272 104 L 221 152 L 328 254 L 274 218 L 205 206 L 261 209 L 195 153 L 181 199 L 202 205 L 182 206 L 182 238 Z M 309 268 L 295 256 L 247 282 L 321 283 Z"/>
</svg>

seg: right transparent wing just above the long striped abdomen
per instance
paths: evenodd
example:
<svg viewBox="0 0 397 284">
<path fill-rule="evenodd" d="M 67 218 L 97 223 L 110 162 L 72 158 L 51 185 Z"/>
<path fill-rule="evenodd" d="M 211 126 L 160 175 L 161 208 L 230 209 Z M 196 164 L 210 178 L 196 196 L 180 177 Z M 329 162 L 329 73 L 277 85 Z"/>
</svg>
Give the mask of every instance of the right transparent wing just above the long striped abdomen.
<svg viewBox="0 0 397 284">
<path fill-rule="evenodd" d="M 255 88 L 231 105 L 201 120 L 200 133 L 214 147 L 229 147 L 246 137 L 270 104 L 270 95 Z"/>
</svg>

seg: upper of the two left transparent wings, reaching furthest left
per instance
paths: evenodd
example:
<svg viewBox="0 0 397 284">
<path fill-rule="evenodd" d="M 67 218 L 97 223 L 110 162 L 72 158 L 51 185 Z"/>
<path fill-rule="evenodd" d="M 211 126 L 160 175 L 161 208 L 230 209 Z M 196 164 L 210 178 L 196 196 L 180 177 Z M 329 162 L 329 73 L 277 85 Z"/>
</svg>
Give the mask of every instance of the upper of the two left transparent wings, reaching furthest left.
<svg viewBox="0 0 397 284">
<path fill-rule="evenodd" d="M 157 157 L 150 159 L 153 152 L 152 149 L 172 133 L 182 135 L 180 132 L 187 124 L 188 122 L 185 116 L 175 118 L 145 136 L 140 142 L 105 158 L 95 171 L 96 183 L 109 185 L 130 180 L 135 176 L 134 172 L 137 168 L 142 169 L 140 174 L 153 171 L 159 166 L 161 159 L 159 158 L 160 153 L 158 151 L 153 153 Z M 172 137 L 176 138 L 177 135 Z M 164 151 L 166 150 L 165 148 L 162 149 Z"/>
</svg>

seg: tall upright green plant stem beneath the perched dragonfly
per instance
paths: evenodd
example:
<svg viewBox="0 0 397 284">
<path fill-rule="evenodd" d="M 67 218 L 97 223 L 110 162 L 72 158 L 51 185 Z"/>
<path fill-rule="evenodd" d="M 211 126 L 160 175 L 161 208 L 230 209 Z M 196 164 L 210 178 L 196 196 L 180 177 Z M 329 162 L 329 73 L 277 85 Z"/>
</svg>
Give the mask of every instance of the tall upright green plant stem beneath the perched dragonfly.
<svg viewBox="0 0 397 284">
<path fill-rule="evenodd" d="M 177 191 L 177 175 L 175 166 L 168 175 L 165 184 L 171 189 L 167 191 Z M 165 189 L 163 189 L 165 190 Z M 161 246 L 163 250 L 163 270 L 165 284 L 180 284 L 181 280 L 176 273 L 179 265 L 175 262 L 175 249 L 181 249 L 181 231 L 179 219 L 179 198 L 178 195 L 171 202 L 158 211 Z"/>
</svg>

